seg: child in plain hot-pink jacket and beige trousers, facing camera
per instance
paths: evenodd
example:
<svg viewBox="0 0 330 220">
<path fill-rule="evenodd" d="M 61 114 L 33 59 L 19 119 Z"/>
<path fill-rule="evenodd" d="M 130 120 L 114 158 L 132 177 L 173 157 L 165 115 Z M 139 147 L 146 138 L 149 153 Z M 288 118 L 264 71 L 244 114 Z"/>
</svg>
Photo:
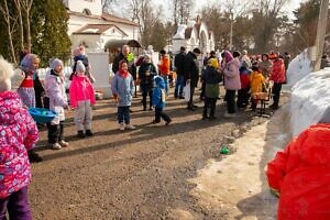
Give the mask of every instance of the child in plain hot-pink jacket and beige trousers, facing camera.
<svg viewBox="0 0 330 220">
<path fill-rule="evenodd" d="M 95 91 L 85 75 L 86 68 L 81 61 L 77 62 L 76 74 L 70 84 L 70 107 L 76 110 L 75 123 L 78 138 L 91 136 L 91 107 L 96 103 Z M 85 132 L 84 133 L 84 129 Z"/>
</svg>

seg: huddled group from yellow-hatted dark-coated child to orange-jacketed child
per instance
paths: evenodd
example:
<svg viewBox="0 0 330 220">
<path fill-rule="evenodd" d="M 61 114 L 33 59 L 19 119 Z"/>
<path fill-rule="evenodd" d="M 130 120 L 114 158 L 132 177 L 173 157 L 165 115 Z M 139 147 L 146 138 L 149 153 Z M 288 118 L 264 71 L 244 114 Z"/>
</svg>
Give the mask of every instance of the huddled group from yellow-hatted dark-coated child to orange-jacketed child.
<svg viewBox="0 0 330 220">
<path fill-rule="evenodd" d="M 251 103 L 251 109 L 255 111 L 261 92 L 266 92 L 270 86 L 270 75 L 272 62 L 267 55 L 265 62 L 251 64 L 250 59 L 242 58 L 239 52 L 222 53 L 222 62 L 219 64 L 215 56 L 205 59 L 205 68 L 201 74 L 202 99 L 205 101 L 202 120 L 215 119 L 215 109 L 219 96 L 219 82 L 224 80 L 226 98 L 228 112 L 226 118 L 234 116 L 234 107 L 246 108 Z M 266 62 L 267 61 L 267 62 Z M 266 63 L 267 66 L 264 64 Z M 272 85 L 272 84 L 271 84 Z M 238 98 L 235 101 L 235 91 Z M 210 113 L 208 114 L 208 109 Z"/>
</svg>

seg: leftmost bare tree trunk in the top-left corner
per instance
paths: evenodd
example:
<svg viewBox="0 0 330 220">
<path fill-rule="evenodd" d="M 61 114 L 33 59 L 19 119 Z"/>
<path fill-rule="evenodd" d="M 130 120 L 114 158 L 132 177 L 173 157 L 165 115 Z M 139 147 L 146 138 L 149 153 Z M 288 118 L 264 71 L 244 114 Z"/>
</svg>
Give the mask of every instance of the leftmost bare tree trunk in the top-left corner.
<svg viewBox="0 0 330 220">
<path fill-rule="evenodd" d="M 0 12 L 1 12 L 1 14 L 4 19 L 4 22 L 6 22 L 6 25 L 7 25 L 11 62 L 16 64 L 15 51 L 14 51 L 13 40 L 12 40 L 12 34 L 15 30 L 16 18 L 13 18 L 10 14 L 10 11 L 8 8 L 8 0 L 1 0 Z"/>
</svg>

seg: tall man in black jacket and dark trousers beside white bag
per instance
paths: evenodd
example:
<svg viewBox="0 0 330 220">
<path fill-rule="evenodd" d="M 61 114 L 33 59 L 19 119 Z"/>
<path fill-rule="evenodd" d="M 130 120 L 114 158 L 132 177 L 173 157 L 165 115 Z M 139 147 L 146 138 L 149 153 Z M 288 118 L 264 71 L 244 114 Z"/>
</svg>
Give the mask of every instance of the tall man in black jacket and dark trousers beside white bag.
<svg viewBox="0 0 330 220">
<path fill-rule="evenodd" d="M 190 100 L 187 103 L 187 109 L 191 111 L 196 108 L 196 106 L 193 105 L 193 96 L 199 78 L 199 63 L 197 61 L 199 55 L 200 50 L 194 48 L 194 51 L 189 52 L 185 58 L 185 80 L 186 85 L 190 84 Z"/>
</svg>

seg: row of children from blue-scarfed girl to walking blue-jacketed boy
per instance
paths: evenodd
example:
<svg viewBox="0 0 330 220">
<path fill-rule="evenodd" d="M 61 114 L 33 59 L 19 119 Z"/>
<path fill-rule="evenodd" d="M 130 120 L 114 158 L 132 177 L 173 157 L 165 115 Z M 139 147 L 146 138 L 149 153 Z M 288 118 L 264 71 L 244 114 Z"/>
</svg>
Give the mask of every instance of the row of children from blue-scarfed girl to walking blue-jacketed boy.
<svg viewBox="0 0 330 220">
<path fill-rule="evenodd" d="M 81 52 L 81 51 L 80 51 Z M 158 123 L 161 118 L 166 122 L 166 125 L 172 122 L 170 118 L 163 112 L 165 107 L 165 86 L 162 77 L 156 76 L 155 68 L 152 68 L 151 57 L 146 56 L 142 65 L 140 76 L 147 86 L 144 97 L 144 108 L 146 108 L 146 94 L 151 96 L 150 109 L 155 109 L 154 123 Z M 86 62 L 87 61 L 87 62 Z M 38 57 L 34 54 L 28 54 L 22 64 L 25 78 L 18 89 L 23 105 L 28 108 L 35 107 L 35 90 L 33 78 L 37 76 L 36 69 L 38 67 Z M 29 66 L 29 70 L 28 67 Z M 91 121 L 92 121 L 92 106 L 96 103 L 92 75 L 88 72 L 89 64 L 84 51 L 75 53 L 74 73 L 70 76 L 72 82 L 69 86 L 69 102 L 65 90 L 65 76 L 63 74 L 63 62 L 54 58 L 50 64 L 50 70 L 46 73 L 43 87 L 44 98 L 43 107 L 56 112 L 56 117 L 47 123 L 48 143 L 52 144 L 53 150 L 61 150 L 68 146 L 64 140 L 64 121 L 65 108 L 68 106 L 75 110 L 75 124 L 77 128 L 77 136 L 92 136 Z M 125 59 L 120 62 L 119 70 L 112 80 L 111 89 L 113 97 L 118 102 L 118 122 L 120 130 L 135 129 L 130 123 L 130 106 L 132 96 L 134 94 L 134 80 L 128 70 L 128 63 Z M 145 69 L 143 68 L 145 67 Z M 144 69 L 144 70 L 143 70 Z M 147 80 L 148 79 L 148 80 Z M 155 84 L 154 84 L 155 82 Z M 152 85 L 150 85 L 152 84 Z M 25 87 L 29 86 L 29 87 Z"/>
</svg>

